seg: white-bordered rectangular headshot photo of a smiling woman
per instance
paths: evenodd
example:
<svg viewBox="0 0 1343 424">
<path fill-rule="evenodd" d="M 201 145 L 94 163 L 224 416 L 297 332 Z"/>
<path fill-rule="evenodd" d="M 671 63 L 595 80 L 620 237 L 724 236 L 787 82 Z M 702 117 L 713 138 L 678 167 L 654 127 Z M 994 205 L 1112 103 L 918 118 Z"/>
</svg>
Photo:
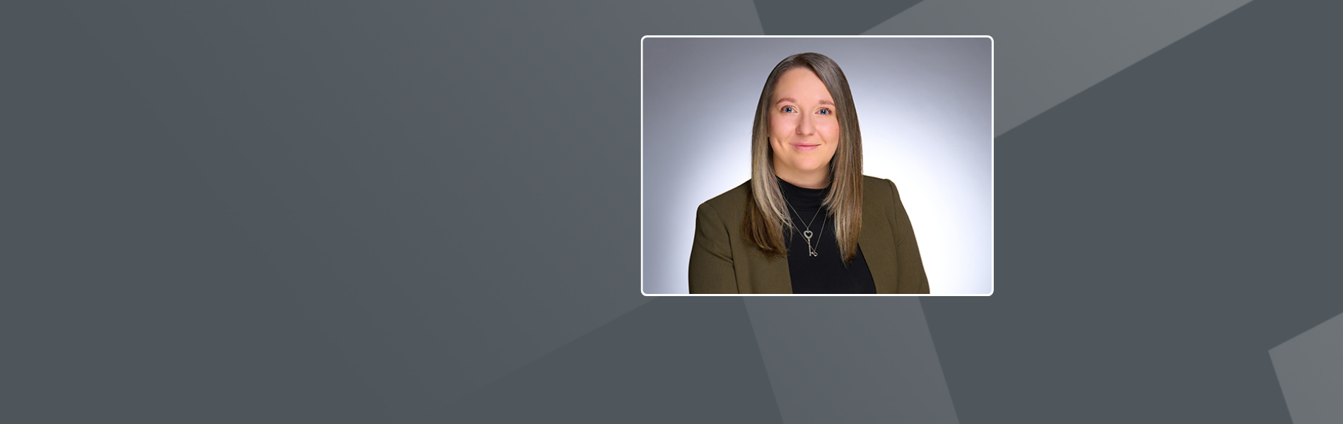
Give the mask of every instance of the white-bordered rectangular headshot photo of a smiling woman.
<svg viewBox="0 0 1343 424">
<path fill-rule="evenodd" d="M 992 294 L 991 38 L 642 43 L 643 294 Z"/>
</svg>

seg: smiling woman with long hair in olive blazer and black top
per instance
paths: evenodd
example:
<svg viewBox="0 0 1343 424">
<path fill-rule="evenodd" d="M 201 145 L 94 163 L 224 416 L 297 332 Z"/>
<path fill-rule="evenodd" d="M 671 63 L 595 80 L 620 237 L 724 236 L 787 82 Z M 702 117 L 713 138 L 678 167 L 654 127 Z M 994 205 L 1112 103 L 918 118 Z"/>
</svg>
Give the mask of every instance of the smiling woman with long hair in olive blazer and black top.
<svg viewBox="0 0 1343 424">
<path fill-rule="evenodd" d="M 751 181 L 700 205 L 690 293 L 928 293 L 890 180 L 862 174 L 849 81 L 806 52 L 766 79 Z"/>
</svg>

